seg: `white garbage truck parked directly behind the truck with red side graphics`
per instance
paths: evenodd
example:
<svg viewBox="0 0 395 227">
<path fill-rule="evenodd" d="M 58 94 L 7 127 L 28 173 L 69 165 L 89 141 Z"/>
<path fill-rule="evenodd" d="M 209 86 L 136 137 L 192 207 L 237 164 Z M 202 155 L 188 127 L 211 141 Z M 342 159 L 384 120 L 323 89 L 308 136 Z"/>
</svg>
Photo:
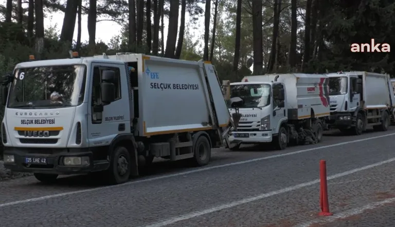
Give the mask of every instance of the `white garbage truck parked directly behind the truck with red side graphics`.
<svg viewBox="0 0 395 227">
<path fill-rule="evenodd" d="M 330 128 L 361 135 L 366 127 L 387 131 L 393 119 L 395 97 L 389 75 L 337 72 L 329 77 Z"/>
</svg>

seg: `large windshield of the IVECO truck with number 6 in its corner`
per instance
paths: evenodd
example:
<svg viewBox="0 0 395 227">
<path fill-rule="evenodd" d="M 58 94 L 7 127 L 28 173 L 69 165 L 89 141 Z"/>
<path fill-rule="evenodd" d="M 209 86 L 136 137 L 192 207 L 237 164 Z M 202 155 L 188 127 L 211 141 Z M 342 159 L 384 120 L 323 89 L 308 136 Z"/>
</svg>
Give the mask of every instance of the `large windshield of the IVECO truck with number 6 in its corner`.
<svg viewBox="0 0 395 227">
<path fill-rule="evenodd" d="M 15 70 L 8 108 L 63 108 L 84 100 L 86 67 L 65 65 Z"/>
</svg>

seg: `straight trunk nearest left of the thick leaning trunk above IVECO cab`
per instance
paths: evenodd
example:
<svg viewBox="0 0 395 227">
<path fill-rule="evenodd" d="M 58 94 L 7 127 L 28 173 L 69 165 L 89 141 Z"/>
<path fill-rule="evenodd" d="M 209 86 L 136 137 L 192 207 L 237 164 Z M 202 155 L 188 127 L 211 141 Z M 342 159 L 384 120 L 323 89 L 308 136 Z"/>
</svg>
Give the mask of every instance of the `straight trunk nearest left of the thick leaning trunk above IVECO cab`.
<svg viewBox="0 0 395 227">
<path fill-rule="evenodd" d="M 37 52 L 36 58 L 40 60 L 44 49 L 44 12 L 43 1 L 35 0 L 35 51 Z"/>
</svg>

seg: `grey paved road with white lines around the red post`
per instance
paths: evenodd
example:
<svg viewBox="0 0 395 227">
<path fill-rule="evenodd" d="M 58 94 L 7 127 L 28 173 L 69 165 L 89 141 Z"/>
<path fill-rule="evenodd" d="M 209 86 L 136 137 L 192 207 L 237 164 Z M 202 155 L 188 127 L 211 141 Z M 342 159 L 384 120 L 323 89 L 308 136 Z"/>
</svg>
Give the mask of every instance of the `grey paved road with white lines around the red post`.
<svg viewBox="0 0 395 227">
<path fill-rule="evenodd" d="M 88 176 L 55 185 L 3 181 L 0 226 L 394 226 L 394 142 L 391 127 L 361 136 L 331 132 L 318 145 L 285 151 L 216 149 L 206 167 L 159 161 L 147 176 L 115 187 Z M 321 159 L 330 217 L 317 215 Z"/>
</svg>

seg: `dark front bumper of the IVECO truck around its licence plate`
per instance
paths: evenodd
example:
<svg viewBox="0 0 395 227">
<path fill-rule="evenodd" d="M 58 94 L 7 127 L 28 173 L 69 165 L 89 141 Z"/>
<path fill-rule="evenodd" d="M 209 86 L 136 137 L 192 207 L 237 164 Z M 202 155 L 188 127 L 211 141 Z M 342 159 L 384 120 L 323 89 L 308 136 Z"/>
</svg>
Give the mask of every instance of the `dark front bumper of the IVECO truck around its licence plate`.
<svg viewBox="0 0 395 227">
<path fill-rule="evenodd" d="M 10 148 L 5 147 L 5 155 L 13 155 L 14 163 L 4 162 L 6 169 L 15 172 L 25 173 L 45 173 L 70 175 L 89 173 L 94 171 L 106 170 L 109 167 L 109 162 L 95 163 L 93 160 L 93 152 L 85 149 L 54 149 L 54 148 Z M 63 157 L 67 156 L 88 156 L 89 164 L 86 166 L 64 166 Z M 26 157 L 31 158 L 46 158 L 47 164 L 26 164 Z"/>
</svg>

